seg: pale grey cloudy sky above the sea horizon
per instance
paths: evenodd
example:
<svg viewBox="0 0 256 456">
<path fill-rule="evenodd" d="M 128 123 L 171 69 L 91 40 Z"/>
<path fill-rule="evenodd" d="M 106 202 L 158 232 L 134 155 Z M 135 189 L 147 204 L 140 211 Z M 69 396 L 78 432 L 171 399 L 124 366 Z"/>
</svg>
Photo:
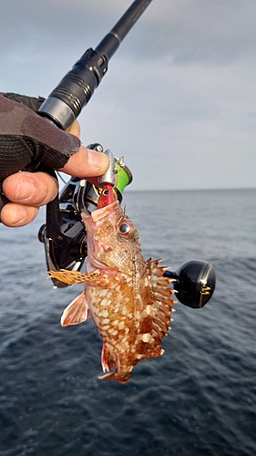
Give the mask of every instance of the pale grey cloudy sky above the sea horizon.
<svg viewBox="0 0 256 456">
<path fill-rule="evenodd" d="M 131 0 L 8 0 L 0 90 L 47 97 Z M 256 187 L 255 0 L 153 0 L 78 117 L 130 190 Z"/>
</svg>

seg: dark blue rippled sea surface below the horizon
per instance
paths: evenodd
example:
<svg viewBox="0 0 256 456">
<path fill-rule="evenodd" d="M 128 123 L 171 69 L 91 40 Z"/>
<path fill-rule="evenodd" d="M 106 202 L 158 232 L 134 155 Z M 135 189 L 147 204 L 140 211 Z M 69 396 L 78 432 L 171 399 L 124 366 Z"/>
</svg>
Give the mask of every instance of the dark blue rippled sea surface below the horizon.
<svg viewBox="0 0 256 456">
<path fill-rule="evenodd" d="M 93 322 L 63 328 L 34 223 L 0 226 L 1 456 L 256 455 L 256 190 L 127 192 L 145 259 L 215 268 L 201 309 L 176 304 L 165 354 L 98 380 Z"/>
</svg>

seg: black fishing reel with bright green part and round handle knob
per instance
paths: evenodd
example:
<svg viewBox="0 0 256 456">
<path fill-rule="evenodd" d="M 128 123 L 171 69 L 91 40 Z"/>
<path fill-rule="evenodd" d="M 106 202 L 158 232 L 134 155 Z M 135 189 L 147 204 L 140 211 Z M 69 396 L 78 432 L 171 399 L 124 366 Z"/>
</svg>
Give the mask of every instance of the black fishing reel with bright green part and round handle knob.
<svg viewBox="0 0 256 456">
<path fill-rule="evenodd" d="M 90 144 L 89 149 L 103 152 L 100 144 Z M 109 154 L 108 154 L 109 152 Z M 109 155 L 111 152 L 106 150 Z M 113 156 L 112 156 L 113 158 Z M 116 200 L 122 201 L 122 192 L 132 181 L 132 174 L 122 159 L 112 162 L 112 176 L 118 172 L 118 184 L 114 187 Z M 114 171 L 113 171 L 114 170 Z M 108 172 L 108 171 L 107 171 Z M 108 176 L 109 180 L 109 176 Z M 38 238 L 45 244 L 47 269 L 79 271 L 87 257 L 87 233 L 81 212 L 97 209 L 99 189 L 85 179 L 71 177 L 59 198 L 46 207 L 46 223 L 41 226 Z M 202 260 L 189 260 L 176 272 L 166 271 L 165 276 L 175 279 L 175 295 L 179 302 L 192 308 L 200 308 L 210 300 L 215 288 L 215 273 L 212 265 Z M 67 284 L 52 278 L 58 288 Z"/>
</svg>

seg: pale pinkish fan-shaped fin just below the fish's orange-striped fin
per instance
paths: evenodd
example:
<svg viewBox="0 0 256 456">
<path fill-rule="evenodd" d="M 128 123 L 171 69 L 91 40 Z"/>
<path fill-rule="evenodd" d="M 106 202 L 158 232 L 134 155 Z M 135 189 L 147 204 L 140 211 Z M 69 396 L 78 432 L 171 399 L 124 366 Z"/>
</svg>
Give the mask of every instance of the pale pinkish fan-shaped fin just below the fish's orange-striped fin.
<svg viewBox="0 0 256 456">
<path fill-rule="evenodd" d="M 88 315 L 87 300 L 83 292 L 66 307 L 60 323 L 62 326 L 78 325 L 79 323 L 86 321 L 88 316 L 90 315 Z"/>
</svg>

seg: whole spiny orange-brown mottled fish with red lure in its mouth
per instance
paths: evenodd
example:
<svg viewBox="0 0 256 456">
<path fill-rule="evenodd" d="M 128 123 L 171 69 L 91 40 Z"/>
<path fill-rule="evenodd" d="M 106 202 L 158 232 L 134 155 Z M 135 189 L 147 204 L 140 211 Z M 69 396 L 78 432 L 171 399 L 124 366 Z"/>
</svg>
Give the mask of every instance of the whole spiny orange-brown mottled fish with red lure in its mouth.
<svg viewBox="0 0 256 456">
<path fill-rule="evenodd" d="M 125 383 L 138 361 L 164 352 L 160 342 L 175 303 L 172 279 L 163 276 L 169 268 L 160 267 L 161 260 L 144 261 L 138 230 L 115 201 L 111 185 L 104 186 L 97 210 L 82 213 L 82 219 L 87 229 L 86 274 L 49 273 L 69 285 L 85 283 L 84 292 L 65 309 L 61 324 L 77 325 L 92 316 L 103 338 L 102 368 L 108 372 L 99 378 Z"/>
</svg>

